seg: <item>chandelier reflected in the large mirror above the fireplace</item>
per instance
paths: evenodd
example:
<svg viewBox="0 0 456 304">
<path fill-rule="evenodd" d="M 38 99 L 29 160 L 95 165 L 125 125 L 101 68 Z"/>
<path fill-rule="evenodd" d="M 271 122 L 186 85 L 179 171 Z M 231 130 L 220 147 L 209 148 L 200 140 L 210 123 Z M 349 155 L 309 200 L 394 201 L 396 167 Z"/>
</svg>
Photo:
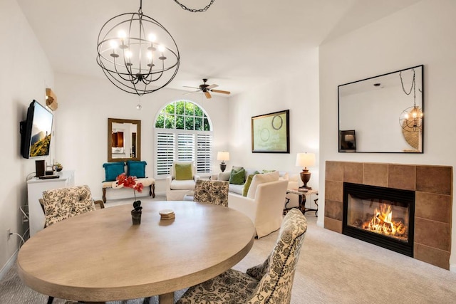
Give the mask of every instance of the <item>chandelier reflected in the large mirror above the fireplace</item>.
<svg viewBox="0 0 456 304">
<path fill-rule="evenodd" d="M 400 83 L 402 85 L 402 90 L 404 91 L 405 95 L 410 95 L 413 90 L 413 107 L 406 108 L 405 110 L 400 113 L 399 117 L 399 124 L 403 130 L 407 132 L 417 132 L 422 130 L 423 126 L 423 110 L 416 105 L 416 82 L 415 82 L 415 68 L 412 69 L 413 71 L 413 78 L 412 78 L 412 85 L 410 90 L 407 92 L 404 88 L 404 82 L 402 78 L 402 71 L 399 72 Z M 418 89 L 420 90 L 420 89 Z"/>
</svg>

